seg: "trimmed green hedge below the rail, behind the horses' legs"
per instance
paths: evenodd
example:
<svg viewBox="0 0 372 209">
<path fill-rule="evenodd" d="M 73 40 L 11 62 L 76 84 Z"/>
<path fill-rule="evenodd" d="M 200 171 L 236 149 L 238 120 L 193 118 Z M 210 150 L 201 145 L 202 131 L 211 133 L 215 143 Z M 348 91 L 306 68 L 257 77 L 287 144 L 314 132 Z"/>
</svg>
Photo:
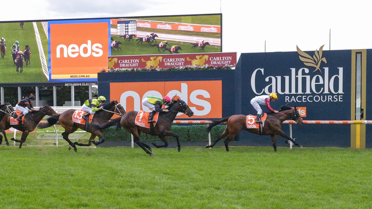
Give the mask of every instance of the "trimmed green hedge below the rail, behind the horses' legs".
<svg viewBox="0 0 372 209">
<path fill-rule="evenodd" d="M 172 125 L 170 131 L 180 136 L 180 141 L 183 142 L 205 142 L 208 141 L 208 132 L 206 131 L 207 125 Z M 226 125 L 217 125 L 211 131 L 212 140 L 217 139 L 222 132 L 225 131 Z M 106 141 L 131 141 L 131 134 L 124 128 L 116 131 L 116 127 L 110 127 L 103 132 Z M 158 136 L 141 133 L 141 141 L 161 141 Z M 172 142 L 176 138 L 168 136 L 167 140 Z"/>
</svg>

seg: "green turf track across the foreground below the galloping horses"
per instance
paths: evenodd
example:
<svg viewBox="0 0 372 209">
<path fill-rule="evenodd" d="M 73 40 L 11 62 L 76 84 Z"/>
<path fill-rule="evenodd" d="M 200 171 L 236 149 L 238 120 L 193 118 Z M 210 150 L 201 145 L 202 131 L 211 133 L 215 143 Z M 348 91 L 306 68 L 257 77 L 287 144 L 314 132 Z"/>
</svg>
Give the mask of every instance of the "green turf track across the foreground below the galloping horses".
<svg viewBox="0 0 372 209">
<path fill-rule="evenodd" d="M 8 208 L 372 208 L 371 149 L 0 146 Z"/>
</svg>

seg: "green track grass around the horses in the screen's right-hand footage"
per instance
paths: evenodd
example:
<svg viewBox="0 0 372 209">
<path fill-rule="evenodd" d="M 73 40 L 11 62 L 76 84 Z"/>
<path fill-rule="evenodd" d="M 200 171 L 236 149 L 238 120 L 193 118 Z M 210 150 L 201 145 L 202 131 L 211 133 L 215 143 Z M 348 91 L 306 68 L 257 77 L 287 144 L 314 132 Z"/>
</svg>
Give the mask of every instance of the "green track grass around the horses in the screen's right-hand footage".
<svg viewBox="0 0 372 209">
<path fill-rule="evenodd" d="M 150 46 L 148 43 L 142 43 L 137 44 L 136 39 L 134 38 L 134 41 L 131 42 L 125 42 L 123 38 L 119 38 L 118 35 L 111 35 L 111 37 L 116 41 L 121 41 L 123 44 L 119 45 L 122 51 L 119 49 L 119 51 L 113 51 L 111 50 L 112 56 L 118 56 L 118 55 L 141 55 L 141 54 L 169 54 L 168 51 L 163 52 L 160 50 L 158 51 L 158 48 L 156 46 Z M 156 43 L 160 43 L 162 40 L 157 40 Z M 154 43 L 154 44 L 156 44 Z M 200 47 L 191 48 L 192 44 L 187 42 L 177 42 L 177 41 L 170 41 L 170 45 L 178 45 L 182 48 L 180 50 L 180 54 L 186 54 L 186 53 L 206 53 L 206 52 L 221 52 L 221 46 L 212 46 L 207 45 L 204 50 L 200 50 Z M 169 47 L 167 47 L 169 48 Z M 116 49 L 115 49 L 116 50 Z"/>
</svg>

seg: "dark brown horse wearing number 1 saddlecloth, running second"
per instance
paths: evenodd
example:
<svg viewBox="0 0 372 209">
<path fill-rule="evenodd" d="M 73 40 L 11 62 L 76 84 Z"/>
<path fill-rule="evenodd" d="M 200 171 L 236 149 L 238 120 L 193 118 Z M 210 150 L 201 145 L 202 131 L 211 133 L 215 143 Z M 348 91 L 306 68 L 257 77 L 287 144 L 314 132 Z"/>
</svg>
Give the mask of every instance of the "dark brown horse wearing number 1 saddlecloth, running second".
<svg viewBox="0 0 372 209">
<path fill-rule="evenodd" d="M 174 118 L 176 118 L 177 113 L 182 112 L 189 117 L 193 116 L 194 113 L 189 108 L 189 106 L 187 106 L 186 102 L 180 99 L 172 100 L 167 109 L 169 110 L 169 112 L 159 112 L 158 120 L 154 127 L 153 133 L 153 135 L 159 136 L 161 141 L 164 142 L 164 145 L 157 145 L 155 142 L 153 142 L 152 144 L 156 148 L 168 147 L 168 141 L 165 137 L 173 136 L 177 140 L 177 150 L 181 151 L 179 136 L 177 134 L 170 132 L 170 127 L 172 126 L 173 120 Z M 93 126 L 96 126 L 97 127 L 96 129 L 106 129 L 113 125 L 116 125 L 118 128 L 120 127 L 125 128 L 126 131 L 130 132 L 133 135 L 134 142 L 136 142 L 136 144 L 138 144 L 138 146 L 140 146 L 147 154 L 152 156 L 154 155 L 152 149 L 147 144 L 144 144 L 140 141 L 141 132 L 145 134 L 150 134 L 150 129 L 137 126 L 135 124 L 135 118 L 137 114 L 138 114 L 137 111 L 129 111 L 121 118 L 115 118 L 101 126 L 98 124 L 94 124 Z"/>
</svg>

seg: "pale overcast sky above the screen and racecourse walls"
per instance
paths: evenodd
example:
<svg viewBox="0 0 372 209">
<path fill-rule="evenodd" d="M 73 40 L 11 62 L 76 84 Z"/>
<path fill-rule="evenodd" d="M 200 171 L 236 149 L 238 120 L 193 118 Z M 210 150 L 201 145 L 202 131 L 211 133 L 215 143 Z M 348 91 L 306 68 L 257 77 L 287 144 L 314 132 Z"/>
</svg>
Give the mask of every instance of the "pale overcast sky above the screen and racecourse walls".
<svg viewBox="0 0 372 209">
<path fill-rule="evenodd" d="M 221 4 L 220 4 L 221 3 Z M 224 52 L 372 48 L 368 1 L 18 0 L 1 3 L 1 21 L 222 13 Z M 1 31 L 0 31 L 1 36 Z"/>
</svg>

